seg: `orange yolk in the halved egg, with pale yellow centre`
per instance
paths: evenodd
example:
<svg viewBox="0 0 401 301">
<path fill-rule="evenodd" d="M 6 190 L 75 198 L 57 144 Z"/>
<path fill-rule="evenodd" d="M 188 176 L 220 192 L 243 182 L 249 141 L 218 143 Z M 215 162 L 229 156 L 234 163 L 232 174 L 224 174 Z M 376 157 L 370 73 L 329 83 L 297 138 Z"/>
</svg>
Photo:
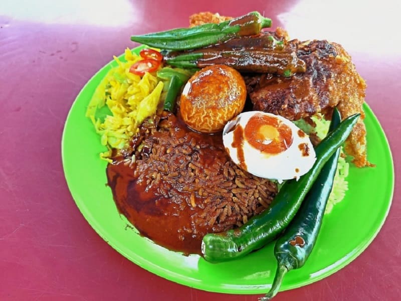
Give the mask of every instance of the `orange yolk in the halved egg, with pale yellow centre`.
<svg viewBox="0 0 401 301">
<path fill-rule="evenodd" d="M 256 149 L 266 154 L 279 154 L 292 144 L 292 130 L 280 119 L 255 114 L 244 129 L 245 139 Z"/>
</svg>

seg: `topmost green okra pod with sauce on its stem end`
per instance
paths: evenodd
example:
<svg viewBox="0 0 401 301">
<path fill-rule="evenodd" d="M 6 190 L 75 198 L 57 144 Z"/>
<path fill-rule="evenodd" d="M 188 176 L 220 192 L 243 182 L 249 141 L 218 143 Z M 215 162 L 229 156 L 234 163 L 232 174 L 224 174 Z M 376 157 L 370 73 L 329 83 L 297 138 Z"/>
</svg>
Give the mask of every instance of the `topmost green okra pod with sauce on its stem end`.
<svg viewBox="0 0 401 301">
<path fill-rule="evenodd" d="M 132 36 L 131 40 L 160 49 L 188 50 L 218 44 L 235 37 L 257 35 L 262 28 L 271 26 L 271 19 L 264 18 L 258 12 L 252 12 L 219 24 L 209 23 L 192 28 Z"/>
</svg>

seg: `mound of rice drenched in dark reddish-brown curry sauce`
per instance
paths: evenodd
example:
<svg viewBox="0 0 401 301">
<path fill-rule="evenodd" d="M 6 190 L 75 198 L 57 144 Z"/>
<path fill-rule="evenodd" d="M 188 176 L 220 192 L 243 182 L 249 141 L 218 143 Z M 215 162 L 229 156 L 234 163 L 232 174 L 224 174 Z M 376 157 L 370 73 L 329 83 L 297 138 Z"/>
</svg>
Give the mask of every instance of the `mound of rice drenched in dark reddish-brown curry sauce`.
<svg viewBox="0 0 401 301">
<path fill-rule="evenodd" d="M 221 133 L 194 132 L 173 114 L 149 126 L 133 153 L 113 157 L 107 179 L 119 212 L 155 243 L 200 254 L 207 233 L 243 225 L 276 195 L 275 183 L 235 165 Z"/>
</svg>

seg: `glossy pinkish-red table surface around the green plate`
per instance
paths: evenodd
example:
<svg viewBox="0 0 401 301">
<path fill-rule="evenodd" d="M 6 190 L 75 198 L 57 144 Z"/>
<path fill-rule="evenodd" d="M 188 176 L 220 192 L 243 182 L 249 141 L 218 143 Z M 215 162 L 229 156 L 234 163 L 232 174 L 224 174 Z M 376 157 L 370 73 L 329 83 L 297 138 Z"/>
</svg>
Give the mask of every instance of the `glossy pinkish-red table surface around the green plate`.
<svg viewBox="0 0 401 301">
<path fill-rule="evenodd" d="M 387 135 L 396 173 L 391 209 L 371 245 L 333 275 L 275 299 L 399 300 L 399 6 L 349 0 L 2 1 L 0 300 L 257 299 L 186 287 L 127 260 L 84 219 L 61 162 L 62 131 L 75 97 L 113 55 L 136 46 L 131 34 L 186 27 L 196 12 L 239 16 L 254 10 L 292 38 L 326 38 L 345 47 L 366 79 L 366 102 Z"/>
</svg>

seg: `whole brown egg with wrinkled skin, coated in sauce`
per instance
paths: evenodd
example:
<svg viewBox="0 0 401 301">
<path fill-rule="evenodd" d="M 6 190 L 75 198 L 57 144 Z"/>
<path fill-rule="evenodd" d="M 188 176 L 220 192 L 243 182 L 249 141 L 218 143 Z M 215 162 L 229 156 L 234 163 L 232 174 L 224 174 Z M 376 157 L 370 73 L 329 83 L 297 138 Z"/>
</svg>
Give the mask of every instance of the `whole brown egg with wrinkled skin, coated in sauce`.
<svg viewBox="0 0 401 301">
<path fill-rule="evenodd" d="M 214 133 L 244 109 L 247 96 L 241 74 L 225 65 L 213 65 L 196 72 L 180 97 L 183 121 L 198 132 Z"/>
</svg>

